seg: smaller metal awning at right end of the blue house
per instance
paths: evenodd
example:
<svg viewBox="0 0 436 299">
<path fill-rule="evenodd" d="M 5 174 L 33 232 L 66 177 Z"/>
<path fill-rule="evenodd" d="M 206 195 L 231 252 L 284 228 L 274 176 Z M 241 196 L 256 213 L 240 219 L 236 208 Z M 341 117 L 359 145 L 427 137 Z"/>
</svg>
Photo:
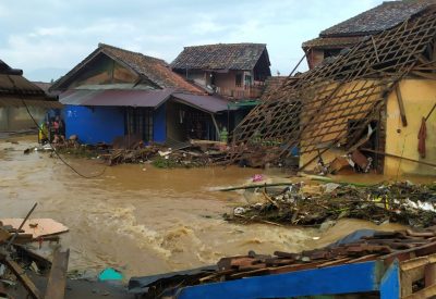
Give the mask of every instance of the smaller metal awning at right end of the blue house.
<svg viewBox="0 0 436 299">
<path fill-rule="evenodd" d="M 213 96 L 197 96 L 197 95 L 189 95 L 189 94 L 173 94 L 173 99 L 175 101 L 180 101 L 182 103 L 191 104 L 197 109 L 216 113 L 219 111 L 225 111 L 228 109 L 229 101 L 213 97 Z"/>
</svg>

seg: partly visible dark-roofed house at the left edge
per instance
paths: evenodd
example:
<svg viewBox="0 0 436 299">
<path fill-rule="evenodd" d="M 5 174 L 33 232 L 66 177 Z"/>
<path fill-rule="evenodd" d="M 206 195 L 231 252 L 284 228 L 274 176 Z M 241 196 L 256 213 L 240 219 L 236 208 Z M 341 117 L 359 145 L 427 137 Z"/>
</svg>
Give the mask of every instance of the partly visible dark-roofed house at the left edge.
<svg viewBox="0 0 436 299">
<path fill-rule="evenodd" d="M 28 113 L 40 122 L 47 110 L 59 108 L 62 104 L 27 80 L 22 70 L 12 68 L 0 60 L 0 132 L 36 128 Z"/>
</svg>

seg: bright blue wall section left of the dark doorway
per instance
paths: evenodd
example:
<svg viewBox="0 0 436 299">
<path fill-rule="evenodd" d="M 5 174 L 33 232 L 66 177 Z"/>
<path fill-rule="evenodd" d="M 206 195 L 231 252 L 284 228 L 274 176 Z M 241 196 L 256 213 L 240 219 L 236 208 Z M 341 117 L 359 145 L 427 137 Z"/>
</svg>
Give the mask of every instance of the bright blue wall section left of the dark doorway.
<svg viewBox="0 0 436 299">
<path fill-rule="evenodd" d="M 65 105 L 66 138 L 77 135 L 82 144 L 111 144 L 124 135 L 124 111 L 120 107 Z"/>
</svg>

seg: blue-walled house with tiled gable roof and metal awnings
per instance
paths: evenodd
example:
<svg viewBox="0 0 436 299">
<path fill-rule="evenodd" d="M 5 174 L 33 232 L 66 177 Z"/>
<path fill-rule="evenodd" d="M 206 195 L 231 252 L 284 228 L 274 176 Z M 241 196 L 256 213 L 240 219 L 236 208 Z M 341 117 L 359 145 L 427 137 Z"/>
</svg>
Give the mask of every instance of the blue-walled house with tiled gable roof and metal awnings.
<svg viewBox="0 0 436 299">
<path fill-rule="evenodd" d="M 228 101 L 207 95 L 156 58 L 99 43 L 50 88 L 64 104 L 66 138 L 112 144 L 218 139 Z"/>
</svg>

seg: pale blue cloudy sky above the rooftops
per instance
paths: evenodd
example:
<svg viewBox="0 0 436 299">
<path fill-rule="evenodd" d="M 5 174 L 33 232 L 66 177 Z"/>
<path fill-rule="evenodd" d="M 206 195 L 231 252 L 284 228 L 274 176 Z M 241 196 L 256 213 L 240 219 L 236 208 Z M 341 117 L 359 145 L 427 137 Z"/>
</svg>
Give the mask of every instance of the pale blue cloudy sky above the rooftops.
<svg viewBox="0 0 436 299">
<path fill-rule="evenodd" d="M 0 0 L 0 59 L 33 80 L 65 74 L 105 42 L 171 62 L 184 46 L 267 43 L 289 74 L 301 43 L 382 0 Z M 306 68 L 304 63 L 301 71 Z"/>
</svg>

